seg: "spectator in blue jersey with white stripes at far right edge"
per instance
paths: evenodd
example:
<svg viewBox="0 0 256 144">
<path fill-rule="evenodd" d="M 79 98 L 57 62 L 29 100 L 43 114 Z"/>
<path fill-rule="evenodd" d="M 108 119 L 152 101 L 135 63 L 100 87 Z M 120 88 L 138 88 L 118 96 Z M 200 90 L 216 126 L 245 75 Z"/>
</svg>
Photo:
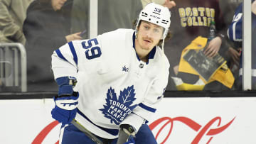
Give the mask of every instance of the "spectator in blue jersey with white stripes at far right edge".
<svg viewBox="0 0 256 144">
<path fill-rule="evenodd" d="M 228 28 L 228 38 L 242 47 L 242 3 L 235 10 L 233 21 Z M 242 48 L 240 48 L 242 49 Z M 241 54 L 242 55 L 242 54 Z M 240 84 L 242 80 L 242 56 L 240 56 Z M 256 1 L 252 0 L 252 89 L 256 89 Z"/>
</svg>

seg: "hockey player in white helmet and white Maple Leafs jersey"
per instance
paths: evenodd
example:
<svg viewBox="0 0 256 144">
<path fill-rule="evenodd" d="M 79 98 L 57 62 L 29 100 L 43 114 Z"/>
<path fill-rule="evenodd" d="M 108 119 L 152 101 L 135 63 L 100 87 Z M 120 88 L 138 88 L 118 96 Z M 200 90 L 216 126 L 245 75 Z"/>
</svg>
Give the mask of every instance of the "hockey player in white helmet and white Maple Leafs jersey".
<svg viewBox="0 0 256 144">
<path fill-rule="evenodd" d="M 59 90 L 51 113 L 63 123 L 60 143 L 156 143 L 144 123 L 168 82 L 163 48 L 170 17 L 169 9 L 151 3 L 136 30 L 74 40 L 53 52 Z"/>
</svg>

